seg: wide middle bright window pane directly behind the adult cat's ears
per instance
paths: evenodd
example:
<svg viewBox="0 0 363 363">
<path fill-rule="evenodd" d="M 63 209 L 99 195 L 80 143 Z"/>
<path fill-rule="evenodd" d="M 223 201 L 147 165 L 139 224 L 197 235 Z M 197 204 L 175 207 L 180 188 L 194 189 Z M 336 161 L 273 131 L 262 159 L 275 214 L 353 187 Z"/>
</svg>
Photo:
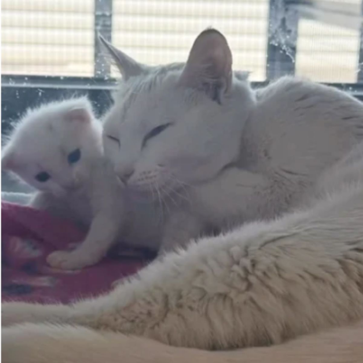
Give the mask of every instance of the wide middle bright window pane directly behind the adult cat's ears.
<svg viewBox="0 0 363 363">
<path fill-rule="evenodd" d="M 227 37 L 234 69 L 265 79 L 268 0 L 113 0 L 113 44 L 139 62 L 185 61 L 199 32 Z M 117 72 L 114 70 L 113 75 Z"/>
</svg>

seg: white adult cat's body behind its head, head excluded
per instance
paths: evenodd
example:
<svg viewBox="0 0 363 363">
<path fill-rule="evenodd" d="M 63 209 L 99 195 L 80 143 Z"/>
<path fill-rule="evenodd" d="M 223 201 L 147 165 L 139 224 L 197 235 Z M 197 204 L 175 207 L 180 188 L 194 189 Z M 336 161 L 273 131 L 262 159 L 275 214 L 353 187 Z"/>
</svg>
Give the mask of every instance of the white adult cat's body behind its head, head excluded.
<svg viewBox="0 0 363 363">
<path fill-rule="evenodd" d="M 212 181 L 189 188 L 191 202 L 182 215 L 191 225 L 197 220 L 201 231 L 228 230 L 299 205 L 321 173 L 362 139 L 362 105 L 351 101 L 340 91 L 293 78 L 264 89 L 246 122 L 239 158 Z M 180 220 L 180 211 L 174 213 Z M 184 224 L 173 225 L 176 241 Z"/>
</svg>

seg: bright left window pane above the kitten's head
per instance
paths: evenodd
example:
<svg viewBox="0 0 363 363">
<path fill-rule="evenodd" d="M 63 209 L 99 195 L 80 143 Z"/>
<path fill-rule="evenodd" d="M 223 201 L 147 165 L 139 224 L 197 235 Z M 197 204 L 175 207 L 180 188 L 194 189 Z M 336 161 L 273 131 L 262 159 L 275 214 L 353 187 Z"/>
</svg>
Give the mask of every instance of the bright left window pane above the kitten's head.
<svg viewBox="0 0 363 363">
<path fill-rule="evenodd" d="M 94 0 L 2 0 L 3 74 L 91 76 Z"/>
</svg>

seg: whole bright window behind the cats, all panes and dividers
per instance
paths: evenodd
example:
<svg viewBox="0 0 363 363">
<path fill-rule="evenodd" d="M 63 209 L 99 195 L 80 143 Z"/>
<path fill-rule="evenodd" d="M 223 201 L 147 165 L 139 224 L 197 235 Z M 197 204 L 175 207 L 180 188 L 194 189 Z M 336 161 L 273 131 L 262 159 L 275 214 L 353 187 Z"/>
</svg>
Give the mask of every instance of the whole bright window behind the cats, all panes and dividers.
<svg viewBox="0 0 363 363">
<path fill-rule="evenodd" d="M 183 61 L 207 26 L 252 81 L 356 83 L 361 62 L 361 0 L 3 0 L 2 22 L 7 75 L 115 77 L 97 32 L 140 62 Z"/>
</svg>

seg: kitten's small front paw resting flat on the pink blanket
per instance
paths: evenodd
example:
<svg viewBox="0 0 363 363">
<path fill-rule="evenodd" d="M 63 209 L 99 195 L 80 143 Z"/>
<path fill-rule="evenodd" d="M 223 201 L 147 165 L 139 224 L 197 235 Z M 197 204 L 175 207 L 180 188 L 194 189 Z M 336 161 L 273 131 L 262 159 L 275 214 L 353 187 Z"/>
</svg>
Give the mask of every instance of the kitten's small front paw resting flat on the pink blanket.
<svg viewBox="0 0 363 363">
<path fill-rule="evenodd" d="M 78 270 L 97 262 L 77 250 L 52 252 L 46 261 L 50 266 L 62 270 Z"/>
</svg>

